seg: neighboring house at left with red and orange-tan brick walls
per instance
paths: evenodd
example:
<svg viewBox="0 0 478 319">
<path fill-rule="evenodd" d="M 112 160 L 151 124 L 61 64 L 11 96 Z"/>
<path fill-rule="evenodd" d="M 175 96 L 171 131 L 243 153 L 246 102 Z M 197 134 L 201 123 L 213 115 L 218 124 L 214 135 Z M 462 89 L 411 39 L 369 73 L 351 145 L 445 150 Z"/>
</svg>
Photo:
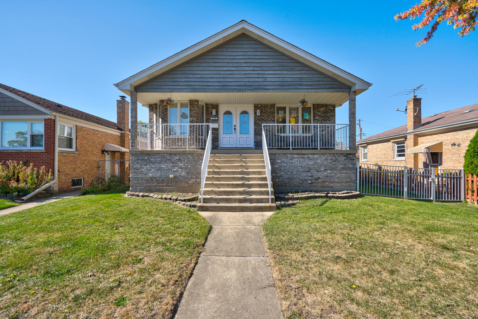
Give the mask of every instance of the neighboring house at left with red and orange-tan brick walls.
<svg viewBox="0 0 478 319">
<path fill-rule="evenodd" d="M 0 84 L 0 162 L 29 161 L 54 173 L 50 190 L 65 192 L 98 177 L 99 160 L 129 160 L 129 102 L 117 101 L 117 121 Z M 55 125 L 56 122 L 56 125 Z M 55 144 L 56 141 L 56 144 Z M 56 163 L 55 163 L 56 160 Z M 103 172 L 129 183 L 129 163 L 103 162 Z M 103 175 L 104 176 L 104 175 Z"/>
</svg>

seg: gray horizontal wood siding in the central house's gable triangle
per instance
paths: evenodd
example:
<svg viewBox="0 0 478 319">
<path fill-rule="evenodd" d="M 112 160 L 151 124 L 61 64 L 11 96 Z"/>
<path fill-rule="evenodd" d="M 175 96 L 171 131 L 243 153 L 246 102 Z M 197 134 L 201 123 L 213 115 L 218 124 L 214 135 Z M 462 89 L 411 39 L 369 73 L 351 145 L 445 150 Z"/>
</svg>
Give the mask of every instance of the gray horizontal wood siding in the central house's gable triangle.
<svg viewBox="0 0 478 319">
<path fill-rule="evenodd" d="M 240 34 L 154 77 L 137 92 L 349 92 L 350 86 Z"/>
</svg>

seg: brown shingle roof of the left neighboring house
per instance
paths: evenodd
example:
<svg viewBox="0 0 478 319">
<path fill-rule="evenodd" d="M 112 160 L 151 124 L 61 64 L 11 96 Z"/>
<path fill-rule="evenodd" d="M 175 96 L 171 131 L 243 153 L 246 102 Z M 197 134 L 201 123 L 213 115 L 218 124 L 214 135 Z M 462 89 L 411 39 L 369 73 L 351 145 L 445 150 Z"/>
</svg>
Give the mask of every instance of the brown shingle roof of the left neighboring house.
<svg viewBox="0 0 478 319">
<path fill-rule="evenodd" d="M 70 108 L 66 105 L 50 101 L 49 99 L 43 99 L 39 96 L 30 94 L 28 92 L 25 92 L 25 91 L 22 91 L 22 90 L 19 90 L 19 89 L 16 89 L 16 88 L 9 87 L 5 84 L 0 83 L 0 88 L 3 88 L 4 90 L 9 91 L 10 93 L 13 93 L 13 94 L 15 94 L 15 95 L 17 95 L 17 96 L 19 96 L 23 99 L 26 99 L 26 100 L 28 100 L 28 101 L 30 101 L 30 102 L 38 105 L 38 106 L 41 106 L 41 107 L 43 107 L 47 110 L 50 110 L 52 112 L 60 113 L 60 114 L 66 115 L 66 116 L 71 116 L 71 117 L 79 119 L 79 120 L 88 121 L 88 122 L 91 122 L 91 123 L 95 123 L 95 124 L 98 124 L 98 125 L 108 127 L 110 129 L 115 129 L 115 130 L 121 131 L 120 128 L 118 127 L 118 125 L 115 122 L 105 120 L 103 118 L 100 118 L 98 116 L 89 114 L 87 112 L 83 112 L 83 111 L 80 111 L 80 110 Z"/>
</svg>

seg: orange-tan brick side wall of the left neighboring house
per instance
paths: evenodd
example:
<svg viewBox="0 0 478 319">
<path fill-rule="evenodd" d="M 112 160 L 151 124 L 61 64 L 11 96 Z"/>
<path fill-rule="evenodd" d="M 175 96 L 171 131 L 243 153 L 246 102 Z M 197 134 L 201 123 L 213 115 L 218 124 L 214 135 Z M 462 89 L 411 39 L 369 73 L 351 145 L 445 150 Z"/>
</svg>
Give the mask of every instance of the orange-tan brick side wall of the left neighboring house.
<svg viewBox="0 0 478 319">
<path fill-rule="evenodd" d="M 125 134 L 126 135 L 126 134 Z M 77 153 L 58 153 L 58 192 L 71 190 L 71 179 L 83 177 L 84 185 L 98 177 L 98 161 L 105 159 L 105 154 L 101 154 L 105 143 L 121 145 L 127 143 L 128 137 L 90 129 L 84 126 L 76 125 L 76 152 Z M 110 152 L 111 159 L 129 159 L 129 154 L 120 155 L 119 152 Z M 126 177 L 127 173 L 122 173 Z M 128 183 L 128 180 L 126 180 Z"/>
</svg>

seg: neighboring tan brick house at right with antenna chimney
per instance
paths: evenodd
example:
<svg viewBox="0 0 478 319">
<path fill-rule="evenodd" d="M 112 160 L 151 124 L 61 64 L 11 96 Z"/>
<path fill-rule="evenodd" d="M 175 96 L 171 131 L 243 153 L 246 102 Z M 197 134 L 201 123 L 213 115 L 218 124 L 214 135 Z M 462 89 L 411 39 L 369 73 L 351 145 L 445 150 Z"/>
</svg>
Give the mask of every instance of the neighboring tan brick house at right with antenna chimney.
<svg viewBox="0 0 478 319">
<path fill-rule="evenodd" d="M 422 119 L 421 100 L 413 96 L 407 101 L 407 124 L 357 142 L 360 163 L 423 167 L 423 149 L 429 147 L 433 167 L 463 168 L 463 155 L 478 129 L 478 104 Z"/>
</svg>

